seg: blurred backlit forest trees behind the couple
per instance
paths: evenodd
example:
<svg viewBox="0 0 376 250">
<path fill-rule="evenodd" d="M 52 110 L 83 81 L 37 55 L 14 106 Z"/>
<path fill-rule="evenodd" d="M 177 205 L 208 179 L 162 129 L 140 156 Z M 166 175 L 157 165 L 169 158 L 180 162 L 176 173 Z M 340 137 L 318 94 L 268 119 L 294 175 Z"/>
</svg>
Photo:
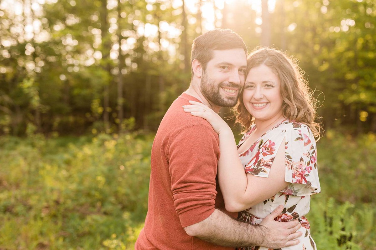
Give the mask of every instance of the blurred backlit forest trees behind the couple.
<svg viewBox="0 0 376 250">
<path fill-rule="evenodd" d="M 326 129 L 376 132 L 375 0 L 275 1 L 269 28 L 256 1 L 196 2 L 37 1 L 15 14 L 3 1 L 0 134 L 24 136 L 29 123 L 45 134 L 100 132 L 107 112 L 110 132 L 131 117 L 136 129 L 156 130 L 189 85 L 192 41 L 212 19 L 199 8 L 211 4 L 215 27 L 237 31 L 249 50 L 270 34 L 271 46 L 299 59 L 315 96 L 323 92 Z"/>
</svg>

